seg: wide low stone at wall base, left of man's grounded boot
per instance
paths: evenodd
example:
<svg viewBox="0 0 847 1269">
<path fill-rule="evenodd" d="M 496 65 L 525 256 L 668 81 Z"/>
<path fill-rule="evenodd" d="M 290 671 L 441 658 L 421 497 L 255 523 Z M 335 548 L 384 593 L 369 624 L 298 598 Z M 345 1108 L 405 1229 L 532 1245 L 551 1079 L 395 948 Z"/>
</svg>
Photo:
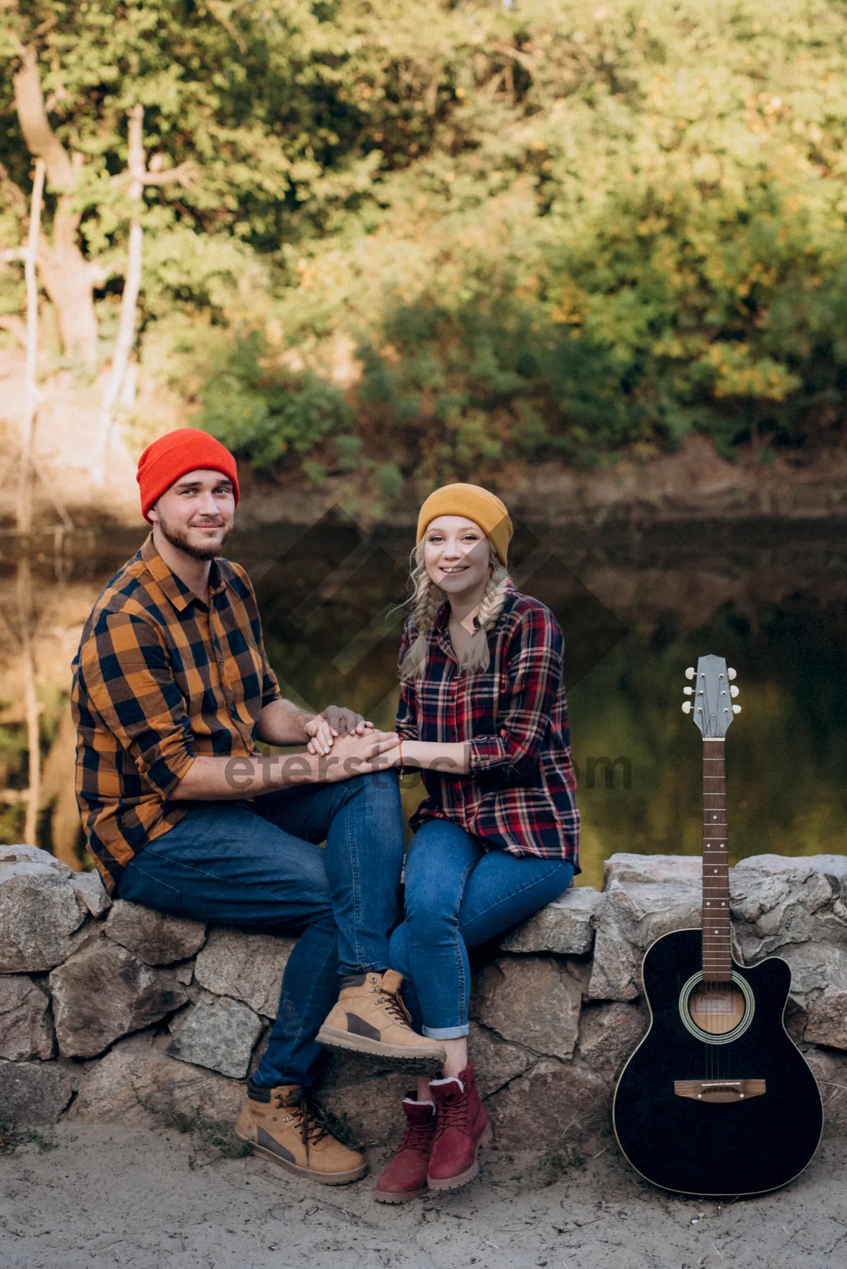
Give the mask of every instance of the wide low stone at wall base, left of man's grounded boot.
<svg viewBox="0 0 847 1269">
<path fill-rule="evenodd" d="M 232 1123 L 244 1096 L 243 1084 L 177 1062 L 149 1034 L 132 1036 L 89 1066 L 67 1118 L 127 1127 L 173 1123 L 175 1115 Z"/>
</svg>

